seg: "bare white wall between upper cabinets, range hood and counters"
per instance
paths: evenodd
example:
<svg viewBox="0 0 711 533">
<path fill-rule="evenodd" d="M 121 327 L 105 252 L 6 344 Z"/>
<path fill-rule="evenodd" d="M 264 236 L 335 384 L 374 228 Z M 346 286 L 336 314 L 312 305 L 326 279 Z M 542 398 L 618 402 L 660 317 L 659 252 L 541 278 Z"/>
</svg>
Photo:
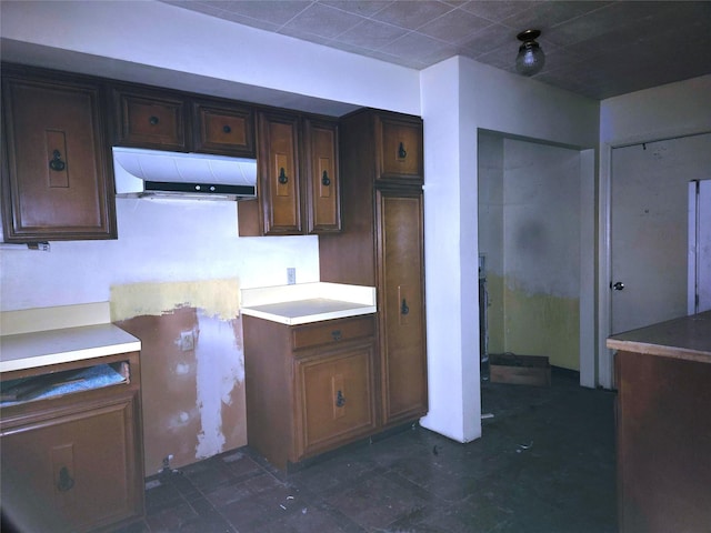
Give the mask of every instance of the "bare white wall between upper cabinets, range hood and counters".
<svg viewBox="0 0 711 533">
<path fill-rule="evenodd" d="M 0 250 L 1 310 L 109 301 L 112 285 L 233 279 L 242 288 L 319 280 L 316 237 L 238 238 L 234 202 L 117 199 L 119 239 Z"/>
</svg>

